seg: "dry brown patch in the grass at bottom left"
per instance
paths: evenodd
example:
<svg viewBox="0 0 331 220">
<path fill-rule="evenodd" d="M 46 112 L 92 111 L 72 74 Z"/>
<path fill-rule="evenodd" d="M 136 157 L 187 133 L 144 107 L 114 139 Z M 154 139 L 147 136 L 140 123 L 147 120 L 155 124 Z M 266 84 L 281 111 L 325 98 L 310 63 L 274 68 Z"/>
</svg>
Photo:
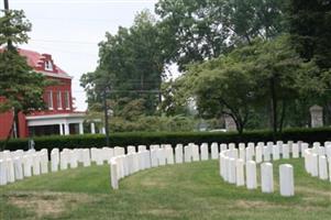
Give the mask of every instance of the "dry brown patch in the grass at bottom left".
<svg viewBox="0 0 331 220">
<path fill-rule="evenodd" d="M 58 217 L 67 209 L 91 201 L 93 198 L 86 194 L 64 193 L 14 193 L 8 195 L 9 202 L 19 208 L 29 209 L 37 218 L 46 216 Z"/>
</svg>

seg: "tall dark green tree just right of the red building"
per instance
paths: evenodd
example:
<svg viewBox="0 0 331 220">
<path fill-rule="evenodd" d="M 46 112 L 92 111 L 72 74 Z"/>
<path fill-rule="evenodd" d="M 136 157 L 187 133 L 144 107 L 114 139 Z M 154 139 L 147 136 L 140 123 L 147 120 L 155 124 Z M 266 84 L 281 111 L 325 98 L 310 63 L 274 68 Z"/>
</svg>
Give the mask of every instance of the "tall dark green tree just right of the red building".
<svg viewBox="0 0 331 220">
<path fill-rule="evenodd" d="M 89 105 L 101 101 L 100 90 L 108 85 L 108 98 L 144 99 L 146 113 L 155 112 L 164 74 L 163 48 L 155 22 L 148 11 L 143 11 L 131 28 L 119 28 L 114 35 L 106 34 L 106 41 L 99 44 L 97 70 L 80 79 Z"/>
</svg>

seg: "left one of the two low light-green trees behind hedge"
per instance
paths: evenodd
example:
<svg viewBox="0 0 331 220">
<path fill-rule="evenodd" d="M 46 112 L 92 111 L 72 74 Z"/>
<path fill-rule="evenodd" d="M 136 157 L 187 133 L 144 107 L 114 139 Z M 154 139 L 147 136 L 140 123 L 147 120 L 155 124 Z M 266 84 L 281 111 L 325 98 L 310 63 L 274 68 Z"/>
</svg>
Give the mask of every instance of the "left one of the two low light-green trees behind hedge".
<svg viewBox="0 0 331 220">
<path fill-rule="evenodd" d="M 180 85 L 177 96 L 186 101 L 194 99 L 202 118 L 230 116 L 241 134 L 256 102 L 257 85 L 251 74 L 252 64 L 242 59 L 241 53 L 232 52 L 192 65 L 177 79 Z"/>
</svg>

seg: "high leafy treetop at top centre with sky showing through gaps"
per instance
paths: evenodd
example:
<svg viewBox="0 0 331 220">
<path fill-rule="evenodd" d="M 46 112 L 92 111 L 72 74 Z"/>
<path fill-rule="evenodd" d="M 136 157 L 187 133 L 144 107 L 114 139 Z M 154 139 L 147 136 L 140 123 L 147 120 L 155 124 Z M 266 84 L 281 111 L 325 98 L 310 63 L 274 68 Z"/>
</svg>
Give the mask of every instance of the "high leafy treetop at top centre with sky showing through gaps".
<svg viewBox="0 0 331 220">
<path fill-rule="evenodd" d="M 285 2 L 159 0 L 155 11 L 167 56 L 185 69 L 187 64 L 227 54 L 257 36 L 278 35 Z"/>
</svg>

